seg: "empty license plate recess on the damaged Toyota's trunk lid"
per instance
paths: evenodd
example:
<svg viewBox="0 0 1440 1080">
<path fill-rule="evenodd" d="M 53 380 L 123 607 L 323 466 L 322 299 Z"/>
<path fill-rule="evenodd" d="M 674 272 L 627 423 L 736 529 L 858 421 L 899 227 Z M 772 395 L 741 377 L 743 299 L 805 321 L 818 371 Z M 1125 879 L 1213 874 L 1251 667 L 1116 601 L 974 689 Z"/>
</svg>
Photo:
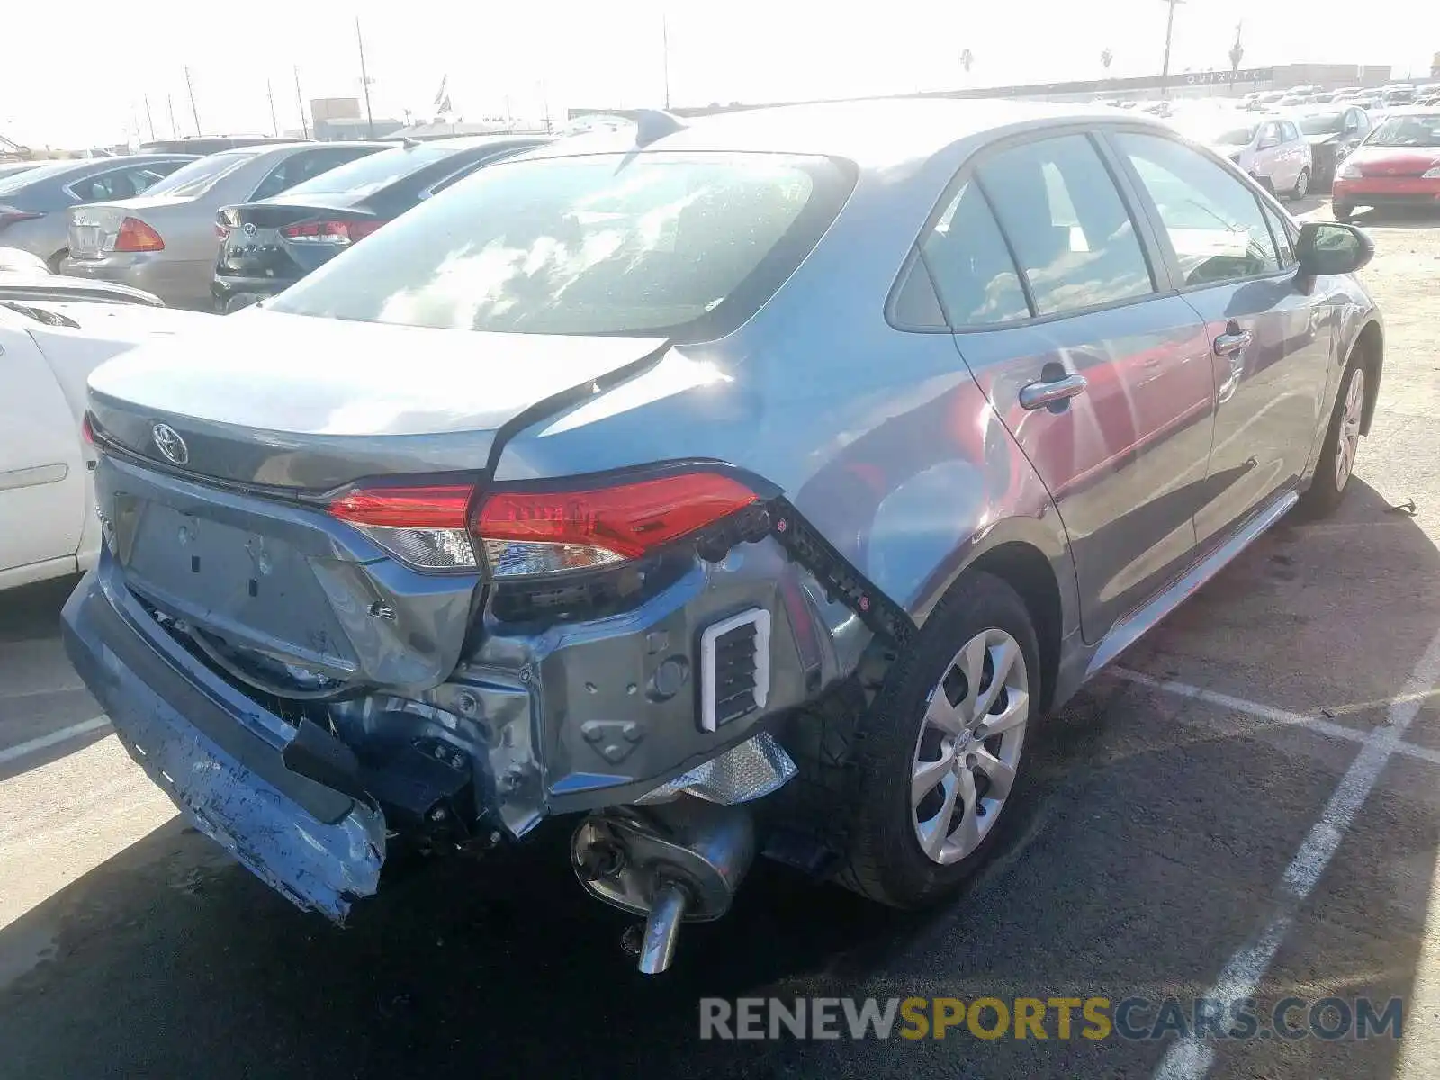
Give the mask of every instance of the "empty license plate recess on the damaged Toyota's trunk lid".
<svg viewBox="0 0 1440 1080">
<path fill-rule="evenodd" d="M 160 503 L 137 507 L 131 588 L 230 645 L 353 674 L 354 652 L 310 560 L 285 540 Z"/>
</svg>

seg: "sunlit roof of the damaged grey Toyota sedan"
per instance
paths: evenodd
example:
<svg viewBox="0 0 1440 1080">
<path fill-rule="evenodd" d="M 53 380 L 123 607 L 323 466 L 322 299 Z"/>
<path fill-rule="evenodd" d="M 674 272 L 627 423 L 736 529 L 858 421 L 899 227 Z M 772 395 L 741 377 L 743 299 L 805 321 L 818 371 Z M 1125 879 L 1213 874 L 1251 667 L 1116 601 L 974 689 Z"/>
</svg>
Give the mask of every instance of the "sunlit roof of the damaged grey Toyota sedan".
<svg viewBox="0 0 1440 1080">
<path fill-rule="evenodd" d="M 678 130 L 645 144 L 664 151 L 755 151 L 841 157 L 861 167 L 923 160 L 956 143 L 998 130 L 1053 127 L 1064 122 L 1135 125 L 1153 124 L 1103 105 L 988 98 L 904 98 L 778 105 L 683 120 Z M 635 131 L 619 128 L 576 134 L 537 151 L 539 157 L 634 148 Z"/>
</svg>

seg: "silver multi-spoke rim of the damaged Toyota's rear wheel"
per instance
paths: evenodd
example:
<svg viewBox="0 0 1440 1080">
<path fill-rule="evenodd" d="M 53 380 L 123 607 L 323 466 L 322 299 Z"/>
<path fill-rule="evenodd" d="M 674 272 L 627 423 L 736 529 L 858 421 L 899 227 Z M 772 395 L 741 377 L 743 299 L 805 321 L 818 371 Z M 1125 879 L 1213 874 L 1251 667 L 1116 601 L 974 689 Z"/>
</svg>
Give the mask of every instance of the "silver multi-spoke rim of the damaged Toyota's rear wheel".
<svg viewBox="0 0 1440 1080">
<path fill-rule="evenodd" d="M 958 863 L 1009 798 L 1030 723 L 1025 654 L 999 628 L 946 664 L 924 707 L 910 768 L 910 821 L 926 858 Z"/>
</svg>

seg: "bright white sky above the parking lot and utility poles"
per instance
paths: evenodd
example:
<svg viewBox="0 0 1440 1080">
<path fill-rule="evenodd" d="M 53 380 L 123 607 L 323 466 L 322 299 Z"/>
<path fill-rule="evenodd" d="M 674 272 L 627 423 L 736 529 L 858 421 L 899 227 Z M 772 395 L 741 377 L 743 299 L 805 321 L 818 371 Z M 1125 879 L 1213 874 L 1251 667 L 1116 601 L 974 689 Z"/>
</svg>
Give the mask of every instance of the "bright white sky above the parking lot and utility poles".
<svg viewBox="0 0 1440 1080">
<path fill-rule="evenodd" d="M 1248 14 L 1246 7 L 1251 10 Z M 194 131 L 190 66 L 207 134 L 298 128 L 294 68 L 305 98 L 359 95 L 360 17 L 376 117 L 428 115 L 441 76 L 467 120 L 510 111 L 556 117 L 570 105 L 660 105 L 661 13 L 670 30 L 675 105 L 893 94 L 960 85 L 1151 75 L 1161 66 L 1164 0 L 1022 3 L 442 3 L 441 0 L 248 0 L 226 4 L 98 0 L 6 4 L 0 19 L 0 134 L 32 145 Z M 1225 68 L 1244 17 L 1244 66 L 1390 63 L 1428 71 L 1440 49 L 1434 0 L 1185 0 L 1175 9 L 1171 69 Z M 975 56 L 966 79 L 959 56 Z"/>
</svg>

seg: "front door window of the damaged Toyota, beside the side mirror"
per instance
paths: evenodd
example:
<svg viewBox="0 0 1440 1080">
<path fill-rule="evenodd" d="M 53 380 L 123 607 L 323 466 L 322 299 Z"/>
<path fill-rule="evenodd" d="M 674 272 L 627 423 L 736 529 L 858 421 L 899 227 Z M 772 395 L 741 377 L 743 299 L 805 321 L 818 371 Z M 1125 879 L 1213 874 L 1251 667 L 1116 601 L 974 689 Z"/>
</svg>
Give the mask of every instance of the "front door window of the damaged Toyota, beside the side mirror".
<svg viewBox="0 0 1440 1080">
<path fill-rule="evenodd" d="M 1185 285 L 1280 269 L 1260 200 L 1241 180 L 1169 138 L 1122 132 L 1115 140 L 1159 210 Z"/>
</svg>

